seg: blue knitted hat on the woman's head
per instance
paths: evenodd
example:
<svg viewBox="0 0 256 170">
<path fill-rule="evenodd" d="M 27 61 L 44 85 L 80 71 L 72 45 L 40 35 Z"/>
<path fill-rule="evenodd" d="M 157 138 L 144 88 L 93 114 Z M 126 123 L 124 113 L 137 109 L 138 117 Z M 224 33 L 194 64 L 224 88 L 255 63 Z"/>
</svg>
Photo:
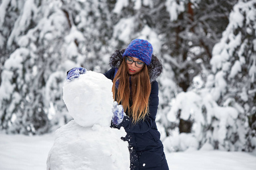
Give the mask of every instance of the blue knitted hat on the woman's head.
<svg viewBox="0 0 256 170">
<path fill-rule="evenodd" d="M 147 40 L 135 39 L 127 46 L 123 57 L 130 56 L 141 59 L 147 66 L 150 65 L 153 47 Z"/>
</svg>

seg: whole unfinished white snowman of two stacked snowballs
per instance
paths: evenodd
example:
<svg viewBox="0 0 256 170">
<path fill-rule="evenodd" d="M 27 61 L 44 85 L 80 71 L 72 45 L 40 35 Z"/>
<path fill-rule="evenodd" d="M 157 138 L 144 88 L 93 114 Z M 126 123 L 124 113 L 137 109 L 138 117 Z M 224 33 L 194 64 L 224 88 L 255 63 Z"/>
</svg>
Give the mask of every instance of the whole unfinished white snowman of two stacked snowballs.
<svg viewBox="0 0 256 170">
<path fill-rule="evenodd" d="M 64 84 L 63 100 L 73 120 L 56 130 L 47 169 L 130 169 L 128 143 L 121 139 L 126 132 L 110 128 L 113 113 L 123 112 L 113 102 L 112 81 L 86 69 L 79 73 Z"/>
</svg>

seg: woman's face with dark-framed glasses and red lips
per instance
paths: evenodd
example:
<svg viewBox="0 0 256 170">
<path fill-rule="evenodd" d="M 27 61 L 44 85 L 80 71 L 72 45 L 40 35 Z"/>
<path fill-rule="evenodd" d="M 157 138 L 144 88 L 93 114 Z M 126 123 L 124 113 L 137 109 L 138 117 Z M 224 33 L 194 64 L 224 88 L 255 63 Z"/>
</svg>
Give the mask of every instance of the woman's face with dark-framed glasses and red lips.
<svg viewBox="0 0 256 170">
<path fill-rule="evenodd" d="M 140 59 L 135 58 L 135 57 L 126 57 L 125 61 L 126 61 L 127 67 L 128 67 L 128 73 L 130 75 L 139 73 L 145 65 L 143 61 L 141 61 Z M 135 62 L 136 62 L 136 64 L 135 64 Z"/>
</svg>

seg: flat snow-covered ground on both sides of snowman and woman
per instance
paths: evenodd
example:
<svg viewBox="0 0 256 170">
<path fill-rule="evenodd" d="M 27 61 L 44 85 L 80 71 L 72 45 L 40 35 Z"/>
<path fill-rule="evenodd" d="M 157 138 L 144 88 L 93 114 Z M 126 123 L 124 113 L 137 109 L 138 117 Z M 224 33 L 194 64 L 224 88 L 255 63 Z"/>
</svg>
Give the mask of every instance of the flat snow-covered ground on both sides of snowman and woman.
<svg viewBox="0 0 256 170">
<path fill-rule="evenodd" d="M 54 134 L 27 137 L 0 133 L 1 170 L 46 169 L 46 160 Z M 256 155 L 245 152 L 186 151 L 166 153 L 172 170 L 253 170 Z"/>
</svg>

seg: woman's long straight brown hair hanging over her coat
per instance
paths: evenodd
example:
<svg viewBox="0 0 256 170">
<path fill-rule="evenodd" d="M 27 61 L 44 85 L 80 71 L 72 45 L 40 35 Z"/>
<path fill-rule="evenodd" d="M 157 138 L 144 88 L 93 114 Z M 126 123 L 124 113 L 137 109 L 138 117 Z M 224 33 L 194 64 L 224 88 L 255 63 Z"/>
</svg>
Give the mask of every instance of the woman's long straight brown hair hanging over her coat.
<svg viewBox="0 0 256 170">
<path fill-rule="evenodd" d="M 118 88 L 115 87 L 117 81 Z M 126 114 L 133 118 L 134 124 L 144 120 L 148 114 L 148 100 L 151 92 L 147 66 L 145 65 L 139 73 L 130 75 L 127 64 L 123 60 L 113 79 L 112 92 L 115 100 L 123 105 L 124 111 L 128 111 Z M 131 106 L 130 100 L 133 103 Z"/>
</svg>

